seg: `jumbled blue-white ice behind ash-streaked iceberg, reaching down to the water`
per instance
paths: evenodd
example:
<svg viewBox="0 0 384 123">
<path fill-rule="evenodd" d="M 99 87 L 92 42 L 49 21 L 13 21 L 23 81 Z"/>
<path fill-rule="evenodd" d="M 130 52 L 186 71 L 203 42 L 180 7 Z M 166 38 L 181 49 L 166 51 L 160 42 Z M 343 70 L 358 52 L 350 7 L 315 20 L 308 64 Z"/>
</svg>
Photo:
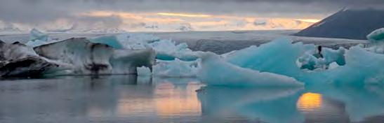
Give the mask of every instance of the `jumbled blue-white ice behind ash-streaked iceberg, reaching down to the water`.
<svg viewBox="0 0 384 123">
<path fill-rule="evenodd" d="M 153 49 L 157 64 L 153 66 L 152 75 L 178 78 L 196 76 L 198 57 L 185 43 L 176 44 L 150 34 L 114 34 L 90 38 L 90 41 L 117 49 Z M 147 68 L 138 68 L 138 71 L 139 75 L 151 75 Z"/>
</svg>

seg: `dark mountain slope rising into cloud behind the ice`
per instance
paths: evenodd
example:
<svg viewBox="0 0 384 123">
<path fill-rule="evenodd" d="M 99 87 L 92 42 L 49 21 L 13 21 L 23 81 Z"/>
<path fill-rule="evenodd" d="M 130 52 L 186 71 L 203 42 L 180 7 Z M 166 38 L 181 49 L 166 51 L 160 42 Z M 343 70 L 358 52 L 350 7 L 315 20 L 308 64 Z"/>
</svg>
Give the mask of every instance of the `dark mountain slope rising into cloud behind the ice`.
<svg viewBox="0 0 384 123">
<path fill-rule="evenodd" d="M 384 10 L 343 9 L 293 36 L 366 40 L 366 35 L 384 27 Z"/>
</svg>

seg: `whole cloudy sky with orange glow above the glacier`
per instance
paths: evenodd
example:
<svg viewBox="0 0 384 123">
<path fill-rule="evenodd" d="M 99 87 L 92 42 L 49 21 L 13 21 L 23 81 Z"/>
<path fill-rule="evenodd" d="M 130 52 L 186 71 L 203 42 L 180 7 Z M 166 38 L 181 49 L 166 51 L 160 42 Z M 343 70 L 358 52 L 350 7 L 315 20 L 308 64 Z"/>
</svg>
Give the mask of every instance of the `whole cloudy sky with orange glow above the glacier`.
<svg viewBox="0 0 384 123">
<path fill-rule="evenodd" d="M 304 29 L 383 0 L 0 0 L 0 31 Z"/>
</svg>

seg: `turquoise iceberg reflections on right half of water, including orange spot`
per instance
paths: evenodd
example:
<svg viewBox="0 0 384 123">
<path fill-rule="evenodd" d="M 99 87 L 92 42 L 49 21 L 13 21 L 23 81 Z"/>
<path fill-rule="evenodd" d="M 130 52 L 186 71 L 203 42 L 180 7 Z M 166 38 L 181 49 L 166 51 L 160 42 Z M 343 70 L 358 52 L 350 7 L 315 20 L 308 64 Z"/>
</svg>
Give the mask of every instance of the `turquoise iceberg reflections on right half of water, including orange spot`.
<svg viewBox="0 0 384 123">
<path fill-rule="evenodd" d="M 382 122 L 384 89 L 378 86 L 260 89 L 203 87 L 202 115 L 247 122 Z"/>
</svg>

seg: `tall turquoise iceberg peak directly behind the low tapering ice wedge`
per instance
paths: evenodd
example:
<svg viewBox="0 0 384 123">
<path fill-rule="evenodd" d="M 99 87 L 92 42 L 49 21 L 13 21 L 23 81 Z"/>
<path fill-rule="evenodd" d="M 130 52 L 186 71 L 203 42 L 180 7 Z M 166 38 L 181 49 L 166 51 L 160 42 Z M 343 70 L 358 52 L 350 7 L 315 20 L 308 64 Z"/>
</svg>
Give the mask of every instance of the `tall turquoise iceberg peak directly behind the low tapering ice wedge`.
<svg viewBox="0 0 384 123">
<path fill-rule="evenodd" d="M 299 78 L 303 72 L 297 65 L 298 57 L 306 51 L 303 43 L 280 38 L 260 47 L 250 47 L 228 55 L 226 60 L 241 68 L 277 73 Z"/>
</svg>

